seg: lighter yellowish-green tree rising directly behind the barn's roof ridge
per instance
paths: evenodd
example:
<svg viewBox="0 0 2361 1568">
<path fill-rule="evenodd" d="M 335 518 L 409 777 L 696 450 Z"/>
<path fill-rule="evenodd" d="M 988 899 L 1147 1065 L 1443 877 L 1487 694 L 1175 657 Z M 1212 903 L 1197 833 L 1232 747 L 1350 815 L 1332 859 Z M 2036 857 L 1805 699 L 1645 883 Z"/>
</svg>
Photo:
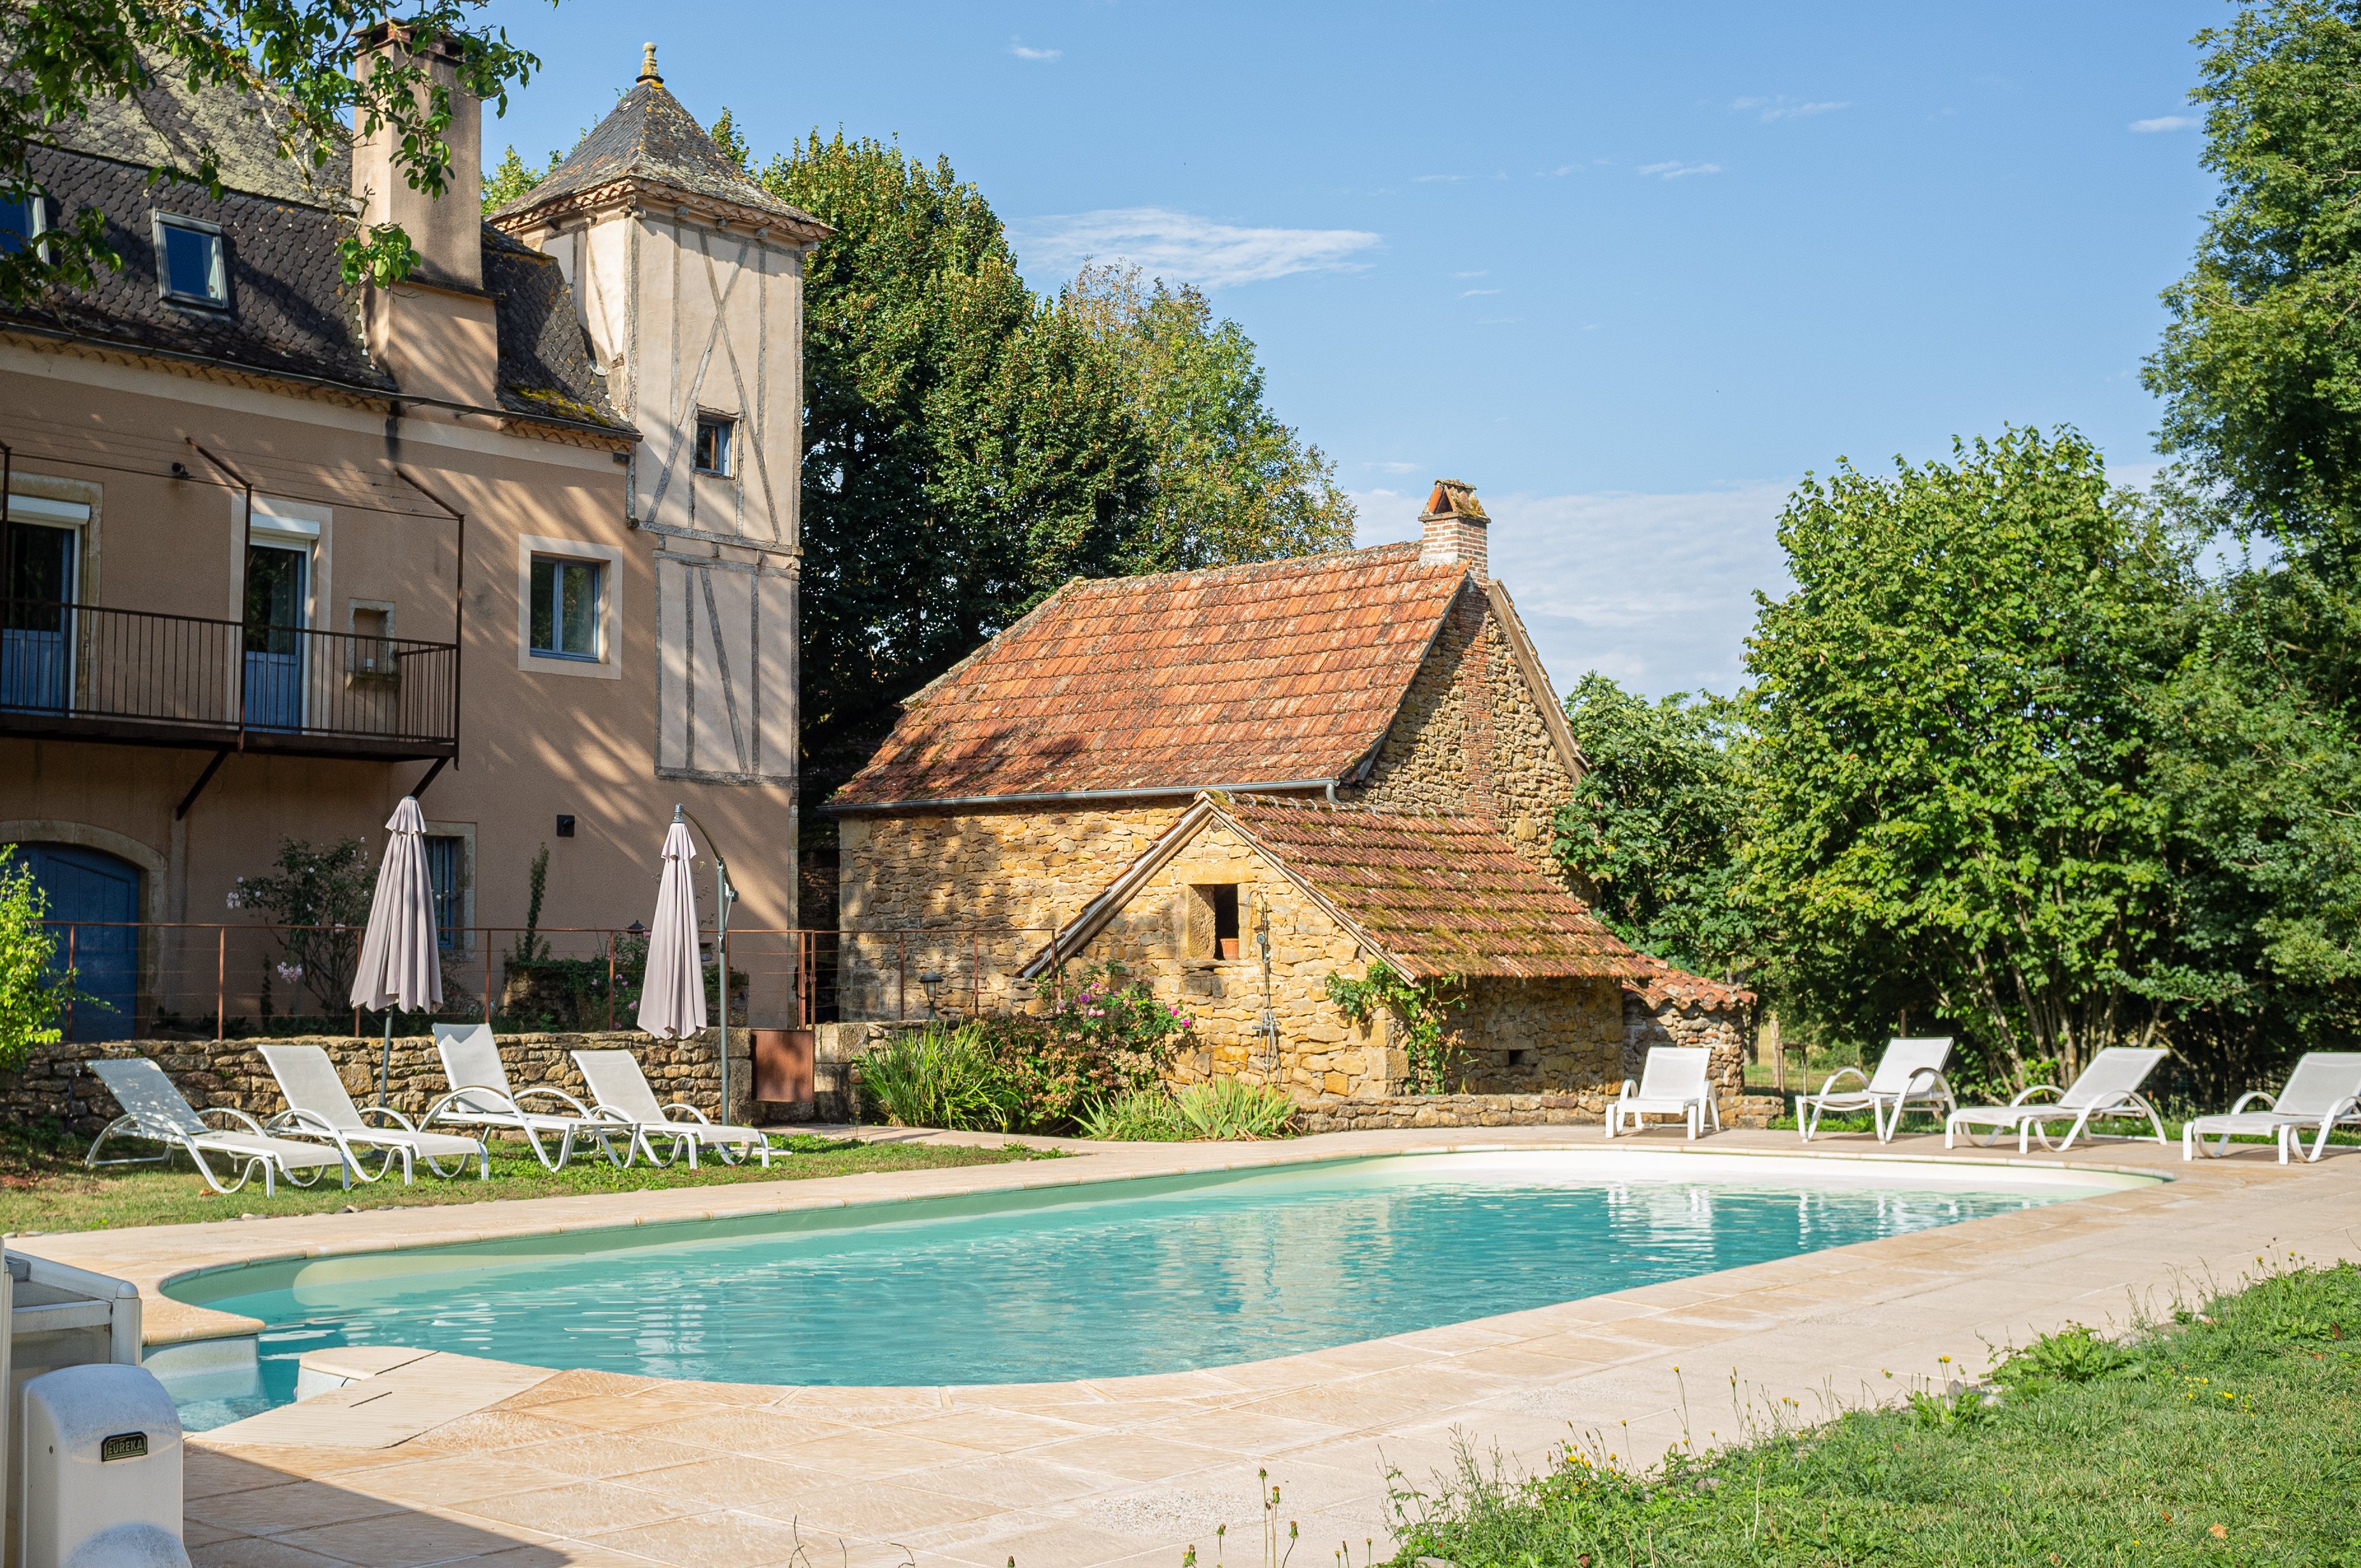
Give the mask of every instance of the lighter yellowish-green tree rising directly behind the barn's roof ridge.
<svg viewBox="0 0 2361 1568">
<path fill-rule="evenodd" d="M 1237 321 L 1192 286 L 1143 286 L 1136 267 L 1084 267 L 1060 309 L 1110 340 L 1147 442 L 1147 510 L 1133 571 L 1228 567 L 1353 543 L 1336 470 L 1265 404 L 1263 366 Z"/>
</svg>

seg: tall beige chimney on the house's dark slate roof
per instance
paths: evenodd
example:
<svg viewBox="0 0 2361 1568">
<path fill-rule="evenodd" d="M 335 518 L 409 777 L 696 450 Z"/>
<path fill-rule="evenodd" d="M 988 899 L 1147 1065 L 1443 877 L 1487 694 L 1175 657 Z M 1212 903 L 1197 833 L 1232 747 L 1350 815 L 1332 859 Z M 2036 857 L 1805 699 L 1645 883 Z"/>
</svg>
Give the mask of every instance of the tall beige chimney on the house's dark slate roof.
<svg viewBox="0 0 2361 1568">
<path fill-rule="evenodd" d="M 406 52 L 406 35 L 380 28 L 361 47 L 354 71 L 366 76 L 387 50 Z M 371 288 L 368 349 L 404 392 L 489 409 L 501 364 L 493 300 L 484 293 L 484 104 L 458 90 L 458 50 L 439 43 L 413 57 L 451 94 L 451 170 L 444 194 L 427 196 L 394 163 L 399 137 L 380 125 L 352 146 L 352 196 L 361 222 L 401 224 L 418 250 L 418 267 L 392 288 Z"/>
</svg>

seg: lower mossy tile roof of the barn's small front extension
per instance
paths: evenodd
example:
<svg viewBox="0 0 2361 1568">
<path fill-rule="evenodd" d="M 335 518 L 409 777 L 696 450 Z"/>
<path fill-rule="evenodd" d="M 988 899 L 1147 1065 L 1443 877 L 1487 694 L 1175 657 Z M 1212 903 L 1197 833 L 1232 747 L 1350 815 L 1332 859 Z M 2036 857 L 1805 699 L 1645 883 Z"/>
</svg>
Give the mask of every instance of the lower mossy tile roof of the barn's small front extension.
<svg viewBox="0 0 2361 1568">
<path fill-rule="evenodd" d="M 1258 796 L 1216 810 L 1414 978 L 1643 973 L 1641 954 L 1485 817 Z"/>
</svg>

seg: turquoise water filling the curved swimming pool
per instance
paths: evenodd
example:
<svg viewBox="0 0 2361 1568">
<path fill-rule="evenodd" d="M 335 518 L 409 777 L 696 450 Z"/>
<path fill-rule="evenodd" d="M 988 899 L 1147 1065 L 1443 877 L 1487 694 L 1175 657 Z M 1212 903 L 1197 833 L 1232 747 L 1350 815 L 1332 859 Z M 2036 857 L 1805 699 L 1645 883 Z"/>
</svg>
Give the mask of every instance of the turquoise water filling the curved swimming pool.
<svg viewBox="0 0 2361 1568">
<path fill-rule="evenodd" d="M 260 1363 L 168 1381 L 203 1429 L 283 1403 L 295 1355 L 335 1344 L 741 1384 L 1178 1372 L 2120 1185 L 1903 1162 L 1410 1155 L 267 1263 L 168 1292 L 264 1320 Z"/>
</svg>

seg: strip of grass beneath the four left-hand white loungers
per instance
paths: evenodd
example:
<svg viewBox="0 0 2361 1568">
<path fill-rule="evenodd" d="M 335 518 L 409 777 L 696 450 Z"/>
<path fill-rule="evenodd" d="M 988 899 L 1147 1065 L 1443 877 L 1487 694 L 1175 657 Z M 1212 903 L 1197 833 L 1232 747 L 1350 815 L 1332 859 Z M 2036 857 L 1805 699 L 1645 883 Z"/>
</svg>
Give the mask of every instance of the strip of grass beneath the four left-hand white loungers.
<svg viewBox="0 0 2361 1568">
<path fill-rule="evenodd" d="M 779 1143 L 779 1138 L 774 1138 Z M 335 1174 L 314 1188 L 279 1185 L 274 1197 L 253 1181 L 222 1197 L 189 1167 L 184 1155 L 170 1164 L 83 1167 L 85 1143 L 54 1129 L 0 1126 L 0 1230 L 28 1235 L 42 1230 L 99 1230 L 120 1226 L 182 1226 L 241 1214 L 328 1214 L 342 1207 L 394 1209 L 408 1204 L 472 1204 L 501 1197 L 569 1197 L 576 1193 L 640 1193 L 645 1188 L 704 1188 L 741 1181 L 807 1181 L 815 1176 L 852 1176 L 855 1171 L 916 1171 L 951 1164 L 1001 1164 L 1006 1159 L 1044 1159 L 1051 1155 L 1022 1148 L 951 1148 L 940 1143 L 862 1143 L 857 1138 L 796 1136 L 784 1141 L 791 1152 L 772 1155 L 770 1169 L 758 1164 L 725 1167 L 711 1155 L 696 1171 L 687 1164 L 630 1169 L 607 1164 L 593 1150 L 576 1155 L 562 1171 L 545 1171 L 524 1143 L 493 1141 L 491 1181 L 444 1181 L 418 1167 L 418 1183 L 404 1188 L 401 1169 L 375 1183 L 354 1183 L 345 1193 Z M 142 1152 L 142 1145 L 109 1145 L 109 1155 Z M 222 1167 L 215 1167 L 217 1171 Z"/>
</svg>

